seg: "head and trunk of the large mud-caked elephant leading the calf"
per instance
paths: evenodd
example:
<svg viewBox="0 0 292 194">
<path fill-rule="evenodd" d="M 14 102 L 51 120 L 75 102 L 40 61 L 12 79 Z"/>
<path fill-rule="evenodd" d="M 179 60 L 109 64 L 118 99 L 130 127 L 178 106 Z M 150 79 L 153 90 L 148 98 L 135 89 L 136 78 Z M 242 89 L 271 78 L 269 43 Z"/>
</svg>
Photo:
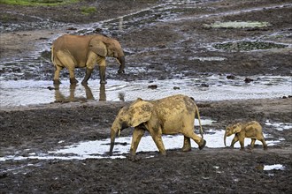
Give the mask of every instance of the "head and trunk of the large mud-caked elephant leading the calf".
<svg viewBox="0 0 292 194">
<path fill-rule="evenodd" d="M 136 127 L 141 123 L 145 123 L 150 120 L 153 112 L 153 105 L 150 102 L 142 101 L 138 98 L 130 106 L 126 106 L 119 110 L 114 122 L 111 125 L 111 148 L 110 155 L 112 154 L 116 135 L 119 135 L 120 131 L 128 127 Z"/>
</svg>

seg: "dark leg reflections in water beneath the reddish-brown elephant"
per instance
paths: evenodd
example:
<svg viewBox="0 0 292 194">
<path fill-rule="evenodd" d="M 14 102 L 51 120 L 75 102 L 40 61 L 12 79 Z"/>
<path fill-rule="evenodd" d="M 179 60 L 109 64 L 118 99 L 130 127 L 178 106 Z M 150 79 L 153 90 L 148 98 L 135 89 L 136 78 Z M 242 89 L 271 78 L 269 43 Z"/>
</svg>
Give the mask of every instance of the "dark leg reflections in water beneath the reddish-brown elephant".
<svg viewBox="0 0 292 194">
<path fill-rule="evenodd" d="M 55 102 L 69 102 L 69 101 L 88 101 L 88 100 L 95 100 L 95 97 L 93 96 L 91 89 L 88 85 L 82 85 L 85 88 L 85 94 L 86 97 L 83 96 L 75 96 L 75 90 L 76 90 L 76 84 L 70 85 L 70 94 L 69 96 L 65 96 L 63 93 L 61 93 L 59 85 L 55 86 Z M 105 94 L 105 85 L 101 84 L 99 87 L 99 101 L 106 101 L 106 94 Z"/>
</svg>

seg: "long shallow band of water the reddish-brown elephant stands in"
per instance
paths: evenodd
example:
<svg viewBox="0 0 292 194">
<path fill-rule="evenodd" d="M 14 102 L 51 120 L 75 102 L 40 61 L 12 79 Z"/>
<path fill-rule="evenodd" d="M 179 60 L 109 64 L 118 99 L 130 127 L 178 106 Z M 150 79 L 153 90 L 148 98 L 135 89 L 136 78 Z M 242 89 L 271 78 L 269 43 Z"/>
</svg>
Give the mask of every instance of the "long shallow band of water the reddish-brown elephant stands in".
<svg viewBox="0 0 292 194">
<path fill-rule="evenodd" d="M 192 96 L 196 101 L 280 98 L 292 94 L 289 77 L 250 78 L 253 80 L 250 83 L 245 83 L 243 77 L 228 79 L 223 75 L 153 80 L 151 83 L 110 79 L 106 85 L 91 79 L 88 86 L 71 86 L 69 80 L 63 80 L 59 89 L 51 81 L 3 80 L 0 82 L 0 107 L 69 101 L 134 101 L 137 97 L 157 100 L 179 93 Z M 81 79 L 79 81 L 81 83 Z"/>
</svg>

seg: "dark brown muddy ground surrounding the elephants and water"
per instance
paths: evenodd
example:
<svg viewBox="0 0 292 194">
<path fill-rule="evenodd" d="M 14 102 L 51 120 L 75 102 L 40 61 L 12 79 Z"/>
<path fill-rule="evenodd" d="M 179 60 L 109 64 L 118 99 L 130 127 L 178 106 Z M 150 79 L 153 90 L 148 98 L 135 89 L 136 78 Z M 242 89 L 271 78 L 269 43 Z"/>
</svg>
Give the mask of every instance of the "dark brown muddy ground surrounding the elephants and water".
<svg viewBox="0 0 292 194">
<path fill-rule="evenodd" d="M 52 36 L 70 33 L 69 26 L 111 19 L 163 3 L 103 0 L 59 7 L 1 5 L 0 19 L 5 26 L 1 34 L 1 61 L 35 52 L 43 41 Z M 96 6 L 97 14 L 81 14 L 81 6 L 87 4 Z M 118 38 L 125 48 L 128 69 L 146 65 L 147 69 L 153 71 L 133 73 L 126 69 L 124 75 L 108 73 L 107 78 L 153 80 L 205 74 L 291 76 L 290 47 L 250 52 L 205 47 L 213 42 L 247 39 L 291 44 L 290 1 L 201 1 L 192 6 L 193 9 L 187 9 L 181 5 L 180 15 L 176 19 L 141 26 L 127 31 L 127 34 L 110 34 Z M 42 26 L 43 20 L 49 22 Z M 271 26 L 244 29 L 212 29 L 204 26 L 214 21 L 229 20 L 266 21 Z M 20 27 L 9 30 L 9 26 L 15 24 Z M 21 28 L 23 24 L 26 25 Z M 97 31 L 103 32 L 103 29 Z M 220 56 L 227 60 L 200 61 L 191 59 L 192 56 Z M 109 66 L 109 72 L 118 70 L 114 65 Z M 20 78 L 51 79 L 51 72 L 48 59 L 41 70 L 23 74 Z M 1 73 L 7 75 L 13 70 L 4 68 Z M 98 81 L 97 74 L 89 81 Z M 67 74 L 63 73 L 62 78 L 66 77 Z M 196 99 L 196 96 L 193 97 Z M 81 140 L 108 138 L 119 108 L 128 103 L 88 101 L 3 107 L 0 110 L 0 157 L 16 153 L 20 156 L 46 153 Z M 138 153 L 141 160 L 136 162 L 127 159 L 1 160 L 0 192 L 291 193 L 292 131 L 277 131 L 274 126 L 265 124 L 266 120 L 292 123 L 291 98 L 279 96 L 265 100 L 197 101 L 197 105 L 203 118 L 216 121 L 204 126 L 205 131 L 223 130 L 234 121 L 257 120 L 262 123 L 265 133 L 271 135 L 266 140 L 284 140 L 276 146 L 269 146 L 267 151 L 259 145 L 252 152 L 248 148 L 242 152 L 239 149 L 208 147 L 201 151 L 193 148 L 188 153 L 182 153 L 179 149 L 168 150 L 167 157 L 142 152 Z M 125 130 L 121 135 L 129 136 L 131 130 Z M 155 157 L 149 158 L 153 154 Z M 265 165 L 273 164 L 281 164 L 284 169 L 263 170 Z"/>
</svg>

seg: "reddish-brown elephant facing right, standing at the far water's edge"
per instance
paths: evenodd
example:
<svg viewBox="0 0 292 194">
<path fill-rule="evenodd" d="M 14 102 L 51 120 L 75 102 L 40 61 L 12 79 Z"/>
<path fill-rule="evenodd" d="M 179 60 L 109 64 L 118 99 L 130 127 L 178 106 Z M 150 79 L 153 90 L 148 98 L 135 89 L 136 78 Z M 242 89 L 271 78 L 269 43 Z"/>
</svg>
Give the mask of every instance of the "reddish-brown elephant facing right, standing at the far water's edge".
<svg viewBox="0 0 292 194">
<path fill-rule="evenodd" d="M 115 57 L 119 62 L 121 73 L 125 68 L 125 55 L 119 44 L 104 35 L 71 35 L 65 34 L 53 42 L 51 60 L 55 66 L 54 84 L 60 84 L 59 74 L 65 67 L 70 74 L 70 83 L 76 84 L 75 68 L 86 67 L 86 74 L 82 84 L 87 84 L 88 78 L 98 63 L 100 83 L 105 84 L 105 56 Z"/>
</svg>

